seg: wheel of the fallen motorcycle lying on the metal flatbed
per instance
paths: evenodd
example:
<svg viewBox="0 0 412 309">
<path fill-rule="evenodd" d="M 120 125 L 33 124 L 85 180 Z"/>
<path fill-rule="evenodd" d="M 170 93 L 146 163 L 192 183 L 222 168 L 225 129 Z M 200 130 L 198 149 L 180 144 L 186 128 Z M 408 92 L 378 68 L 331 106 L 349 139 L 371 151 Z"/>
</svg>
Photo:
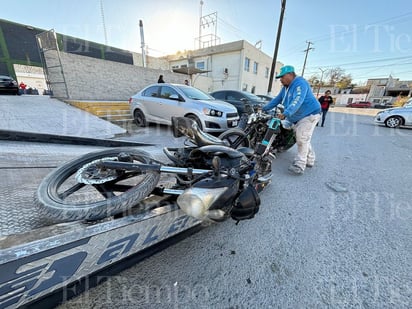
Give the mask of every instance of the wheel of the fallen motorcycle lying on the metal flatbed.
<svg viewBox="0 0 412 309">
<path fill-rule="evenodd" d="M 160 173 L 154 170 L 118 173 L 113 169 L 99 169 L 94 163 L 104 158 L 116 160 L 120 153 L 129 154 L 133 163 L 150 163 L 153 160 L 145 151 L 122 147 L 76 158 L 53 170 L 40 183 L 35 204 L 41 214 L 58 222 L 99 220 L 137 205 L 156 187 Z M 89 170 L 94 172 L 95 178 L 90 179 L 95 183 L 80 183 L 76 179 L 79 170 L 81 177 L 93 175 Z"/>
</svg>

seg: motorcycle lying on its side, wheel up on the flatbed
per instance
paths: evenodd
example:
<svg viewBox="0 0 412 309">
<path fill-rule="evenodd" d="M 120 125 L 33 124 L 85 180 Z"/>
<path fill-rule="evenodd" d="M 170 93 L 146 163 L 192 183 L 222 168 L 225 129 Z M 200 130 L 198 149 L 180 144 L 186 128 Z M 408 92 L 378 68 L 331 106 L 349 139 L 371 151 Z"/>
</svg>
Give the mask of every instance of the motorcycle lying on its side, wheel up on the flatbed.
<svg viewBox="0 0 412 309">
<path fill-rule="evenodd" d="M 189 118 L 173 117 L 172 129 L 174 137 L 186 140 L 183 147 L 163 148 L 171 163 L 136 148 L 88 153 L 43 179 L 35 197 L 40 211 L 57 221 L 100 220 L 143 207 L 143 200 L 158 195 L 202 221 L 253 218 L 258 193 L 270 183 L 271 158 L 230 148 Z"/>
</svg>

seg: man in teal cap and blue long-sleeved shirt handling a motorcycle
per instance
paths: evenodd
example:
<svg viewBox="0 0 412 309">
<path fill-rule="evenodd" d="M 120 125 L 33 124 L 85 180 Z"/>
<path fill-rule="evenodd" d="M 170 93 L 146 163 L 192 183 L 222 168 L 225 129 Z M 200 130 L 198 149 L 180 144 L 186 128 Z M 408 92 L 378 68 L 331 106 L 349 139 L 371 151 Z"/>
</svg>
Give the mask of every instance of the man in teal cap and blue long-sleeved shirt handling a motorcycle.
<svg viewBox="0 0 412 309">
<path fill-rule="evenodd" d="M 263 107 L 263 111 L 271 110 L 278 104 L 285 109 L 278 117 L 293 123 L 298 153 L 289 166 L 289 171 L 295 175 L 302 175 L 306 167 L 315 164 L 315 152 L 311 145 L 313 131 L 320 119 L 320 104 L 312 93 L 309 83 L 301 76 L 297 76 L 295 68 L 285 65 L 276 76 L 283 87 L 280 93 Z"/>
</svg>

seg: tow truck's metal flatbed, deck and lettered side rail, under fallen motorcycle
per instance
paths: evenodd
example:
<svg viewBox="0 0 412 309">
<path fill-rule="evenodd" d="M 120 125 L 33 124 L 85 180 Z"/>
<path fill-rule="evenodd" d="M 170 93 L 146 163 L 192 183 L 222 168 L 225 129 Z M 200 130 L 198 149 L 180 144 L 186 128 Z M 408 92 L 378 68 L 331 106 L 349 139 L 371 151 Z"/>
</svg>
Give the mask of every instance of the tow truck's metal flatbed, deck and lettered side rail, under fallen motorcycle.
<svg viewBox="0 0 412 309">
<path fill-rule="evenodd" d="M 0 309 L 53 308 L 81 293 L 80 281 L 130 266 L 136 256 L 153 254 L 200 228 L 163 197 L 146 199 L 122 217 L 50 224 L 33 204 L 41 180 L 56 166 L 102 147 L 0 144 Z M 158 146 L 142 148 L 161 158 Z"/>
</svg>

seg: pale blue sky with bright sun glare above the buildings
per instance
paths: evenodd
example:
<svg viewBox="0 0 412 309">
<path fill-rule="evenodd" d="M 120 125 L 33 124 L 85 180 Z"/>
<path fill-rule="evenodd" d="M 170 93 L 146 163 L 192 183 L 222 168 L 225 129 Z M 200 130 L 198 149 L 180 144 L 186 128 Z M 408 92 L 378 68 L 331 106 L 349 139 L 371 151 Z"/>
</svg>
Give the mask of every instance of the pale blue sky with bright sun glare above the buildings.
<svg viewBox="0 0 412 309">
<path fill-rule="evenodd" d="M 142 20 L 148 54 L 156 57 L 198 48 L 200 13 L 203 17 L 217 13 L 216 24 L 212 18 L 203 19 L 209 24 L 202 28 L 202 35 L 216 33 L 220 43 L 257 43 L 273 56 L 281 0 L 200 2 L 3 0 L 0 18 L 98 43 L 107 41 L 110 46 L 139 53 Z M 412 80 L 412 8 L 408 1 L 287 0 L 277 60 L 295 66 L 300 74 L 308 42 L 312 49 L 304 72 L 307 78 L 340 67 L 359 84 L 389 75 Z"/>
</svg>

